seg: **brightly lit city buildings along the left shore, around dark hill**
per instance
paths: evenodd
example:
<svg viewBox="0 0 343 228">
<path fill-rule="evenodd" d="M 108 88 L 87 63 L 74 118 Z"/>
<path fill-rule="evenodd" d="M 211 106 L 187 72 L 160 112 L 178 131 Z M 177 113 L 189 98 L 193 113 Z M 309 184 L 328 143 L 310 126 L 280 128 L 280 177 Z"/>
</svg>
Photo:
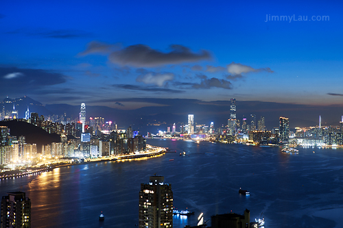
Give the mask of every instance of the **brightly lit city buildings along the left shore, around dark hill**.
<svg viewBox="0 0 343 228">
<path fill-rule="evenodd" d="M 5 121 L 13 121 L 7 119 Z M 41 153 L 37 153 L 37 144 L 27 144 L 25 137 L 10 135 L 8 127 L 0 126 L 0 164 L 22 165 L 31 163 L 41 157 L 103 157 L 110 155 L 126 155 L 146 150 L 146 139 L 134 131 L 117 129 L 110 121 L 102 117 L 89 118 L 86 121 L 86 105 L 82 103 L 80 119 L 77 123 L 54 123 L 46 121 L 44 116 L 30 113 L 30 118 L 16 119 L 36 125 L 49 133 L 60 136 L 60 142 L 43 144 Z M 39 157 L 38 157 L 39 155 Z"/>
</svg>

